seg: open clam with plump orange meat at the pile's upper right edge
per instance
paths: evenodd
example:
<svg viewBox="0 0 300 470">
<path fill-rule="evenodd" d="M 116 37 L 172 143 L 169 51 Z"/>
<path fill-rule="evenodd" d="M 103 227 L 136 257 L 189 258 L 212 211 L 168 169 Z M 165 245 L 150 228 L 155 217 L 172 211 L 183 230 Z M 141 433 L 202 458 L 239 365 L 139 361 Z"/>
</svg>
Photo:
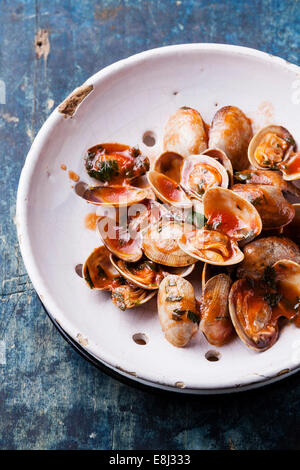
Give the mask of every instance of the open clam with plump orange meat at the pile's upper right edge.
<svg viewBox="0 0 300 470">
<path fill-rule="evenodd" d="M 286 161 L 294 153 L 295 148 L 295 140 L 285 127 L 270 125 L 260 129 L 253 136 L 248 147 L 248 158 L 255 168 L 280 169 L 286 172 L 286 174 L 284 173 L 284 179 L 297 179 L 299 169 L 295 168 L 294 172 L 291 171 L 293 170 L 293 164 L 289 170 L 285 170 Z M 286 178 L 287 172 L 289 173 L 288 178 Z M 293 177 L 293 174 L 295 177 Z"/>
</svg>

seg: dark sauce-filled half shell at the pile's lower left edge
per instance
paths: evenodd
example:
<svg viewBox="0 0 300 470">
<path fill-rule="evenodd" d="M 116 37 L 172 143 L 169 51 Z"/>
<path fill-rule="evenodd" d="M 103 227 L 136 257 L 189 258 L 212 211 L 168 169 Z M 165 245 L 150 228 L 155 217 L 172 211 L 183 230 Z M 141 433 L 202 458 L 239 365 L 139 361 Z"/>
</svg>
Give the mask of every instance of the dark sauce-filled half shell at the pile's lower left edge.
<svg viewBox="0 0 300 470">
<path fill-rule="evenodd" d="M 91 289 L 111 290 L 119 285 L 119 272 L 112 265 L 105 246 L 92 251 L 83 265 L 82 274 Z"/>
</svg>

